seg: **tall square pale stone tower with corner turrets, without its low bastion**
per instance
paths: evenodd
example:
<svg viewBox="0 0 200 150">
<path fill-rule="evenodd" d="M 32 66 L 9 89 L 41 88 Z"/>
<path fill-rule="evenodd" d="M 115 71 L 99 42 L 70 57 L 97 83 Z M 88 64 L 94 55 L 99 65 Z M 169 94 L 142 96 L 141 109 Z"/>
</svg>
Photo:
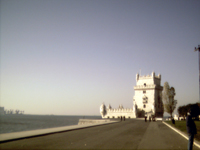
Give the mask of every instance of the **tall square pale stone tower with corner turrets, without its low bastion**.
<svg viewBox="0 0 200 150">
<path fill-rule="evenodd" d="M 161 92 L 163 87 L 160 85 L 161 75 L 140 76 L 136 74 L 136 86 L 134 86 L 135 96 L 133 97 L 133 103 L 137 112 L 143 112 L 142 116 L 155 116 L 163 117 L 163 103 L 161 98 Z"/>
</svg>

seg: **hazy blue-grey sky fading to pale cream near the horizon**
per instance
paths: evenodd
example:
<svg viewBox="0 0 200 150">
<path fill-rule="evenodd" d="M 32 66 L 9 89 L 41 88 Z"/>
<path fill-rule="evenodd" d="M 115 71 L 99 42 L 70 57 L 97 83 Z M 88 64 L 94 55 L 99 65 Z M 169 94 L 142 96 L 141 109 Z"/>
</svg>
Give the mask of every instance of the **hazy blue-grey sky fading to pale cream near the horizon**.
<svg viewBox="0 0 200 150">
<path fill-rule="evenodd" d="M 200 1 L 1 0 L 0 106 L 100 115 L 133 106 L 136 74 L 199 102 Z"/>
</svg>

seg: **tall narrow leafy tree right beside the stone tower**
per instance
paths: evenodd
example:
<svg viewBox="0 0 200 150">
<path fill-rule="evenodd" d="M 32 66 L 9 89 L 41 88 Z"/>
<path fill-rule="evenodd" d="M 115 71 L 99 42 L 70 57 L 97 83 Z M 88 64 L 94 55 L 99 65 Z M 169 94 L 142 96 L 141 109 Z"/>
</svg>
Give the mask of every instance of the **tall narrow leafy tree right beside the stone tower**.
<svg viewBox="0 0 200 150">
<path fill-rule="evenodd" d="M 161 96 L 163 99 L 164 110 L 170 114 L 171 118 L 177 104 L 177 100 L 174 100 L 175 95 L 174 87 L 170 87 L 169 83 L 165 82 Z"/>
</svg>

